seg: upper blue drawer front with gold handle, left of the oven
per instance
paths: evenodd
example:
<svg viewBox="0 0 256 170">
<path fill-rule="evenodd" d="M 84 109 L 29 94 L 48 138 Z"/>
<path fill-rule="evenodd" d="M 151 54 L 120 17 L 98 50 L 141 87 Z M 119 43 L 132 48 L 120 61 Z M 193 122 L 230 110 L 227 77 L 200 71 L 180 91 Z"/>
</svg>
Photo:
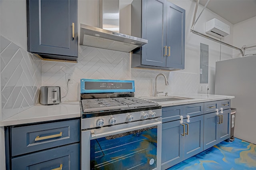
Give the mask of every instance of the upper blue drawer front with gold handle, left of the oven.
<svg viewBox="0 0 256 170">
<path fill-rule="evenodd" d="M 14 127 L 12 128 L 12 156 L 79 141 L 80 119 Z"/>
</svg>

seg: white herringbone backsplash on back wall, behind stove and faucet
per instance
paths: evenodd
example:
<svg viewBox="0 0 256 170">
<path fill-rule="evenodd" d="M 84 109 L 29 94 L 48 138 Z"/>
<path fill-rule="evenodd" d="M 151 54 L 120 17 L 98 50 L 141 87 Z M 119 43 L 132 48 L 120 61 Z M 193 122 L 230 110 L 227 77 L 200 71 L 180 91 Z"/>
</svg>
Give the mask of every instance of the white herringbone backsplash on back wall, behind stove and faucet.
<svg viewBox="0 0 256 170">
<path fill-rule="evenodd" d="M 154 95 L 155 77 L 163 73 L 168 77 L 165 86 L 164 77 L 158 77 L 158 91 L 169 95 L 197 93 L 198 74 L 177 71 L 155 71 L 132 69 L 130 53 L 79 46 L 78 63 L 42 61 L 42 85 L 60 86 L 62 96 L 67 94 L 66 73 L 73 74 L 73 83 L 68 84 L 68 94 L 62 101 L 80 100 L 80 79 L 121 79 L 135 81 L 135 96 Z M 160 93 L 160 95 L 164 95 Z"/>
</svg>

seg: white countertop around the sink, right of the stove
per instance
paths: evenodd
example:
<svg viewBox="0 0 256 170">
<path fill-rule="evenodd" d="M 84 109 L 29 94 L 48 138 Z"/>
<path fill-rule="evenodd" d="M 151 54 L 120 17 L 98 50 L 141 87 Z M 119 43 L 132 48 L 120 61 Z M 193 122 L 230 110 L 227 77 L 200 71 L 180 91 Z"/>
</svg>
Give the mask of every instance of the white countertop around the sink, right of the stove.
<svg viewBox="0 0 256 170">
<path fill-rule="evenodd" d="M 208 101 L 217 101 L 217 100 L 225 100 L 225 99 L 232 99 L 235 98 L 234 96 L 225 96 L 225 95 L 207 95 L 207 94 L 191 94 L 191 95 L 171 95 L 168 97 L 185 97 L 190 99 L 184 99 L 184 100 L 176 100 L 176 101 L 164 101 L 164 102 L 158 102 L 162 107 L 167 106 L 175 106 L 175 105 L 186 105 L 186 104 L 192 104 L 192 103 L 201 103 L 201 102 L 208 102 Z M 166 98 L 166 96 L 147 96 L 147 97 L 141 97 L 142 99 L 162 99 Z"/>
</svg>

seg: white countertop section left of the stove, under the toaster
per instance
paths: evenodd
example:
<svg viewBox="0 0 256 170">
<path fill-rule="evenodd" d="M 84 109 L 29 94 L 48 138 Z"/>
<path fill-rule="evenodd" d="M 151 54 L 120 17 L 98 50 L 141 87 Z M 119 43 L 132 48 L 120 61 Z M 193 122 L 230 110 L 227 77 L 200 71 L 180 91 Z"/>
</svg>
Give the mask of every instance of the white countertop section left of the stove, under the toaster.
<svg viewBox="0 0 256 170">
<path fill-rule="evenodd" d="M 0 121 L 0 127 L 81 117 L 79 101 L 62 102 L 58 105 L 37 104 L 8 119 Z"/>
</svg>

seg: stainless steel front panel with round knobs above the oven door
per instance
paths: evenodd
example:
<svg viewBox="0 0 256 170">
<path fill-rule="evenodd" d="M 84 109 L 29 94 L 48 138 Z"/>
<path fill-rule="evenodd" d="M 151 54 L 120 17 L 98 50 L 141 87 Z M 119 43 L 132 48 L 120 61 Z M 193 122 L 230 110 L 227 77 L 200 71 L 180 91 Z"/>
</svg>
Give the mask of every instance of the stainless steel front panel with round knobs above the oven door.
<svg viewBox="0 0 256 170">
<path fill-rule="evenodd" d="M 149 111 L 139 111 L 132 113 L 123 113 L 118 115 L 108 115 L 102 117 L 91 117 L 82 119 L 82 129 L 104 127 L 120 123 L 129 123 L 134 121 L 143 121 L 146 119 L 154 119 L 162 117 L 162 109 L 155 109 Z"/>
</svg>

